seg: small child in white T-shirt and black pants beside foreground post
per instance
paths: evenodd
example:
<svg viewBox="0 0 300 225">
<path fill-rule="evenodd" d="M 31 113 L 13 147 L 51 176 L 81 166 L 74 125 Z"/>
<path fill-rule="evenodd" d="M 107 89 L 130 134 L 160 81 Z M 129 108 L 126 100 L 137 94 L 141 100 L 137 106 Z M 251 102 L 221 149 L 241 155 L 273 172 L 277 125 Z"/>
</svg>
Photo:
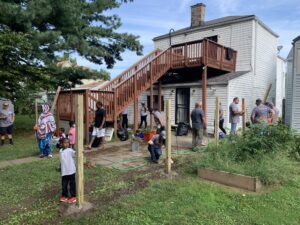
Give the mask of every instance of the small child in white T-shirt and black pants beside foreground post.
<svg viewBox="0 0 300 225">
<path fill-rule="evenodd" d="M 70 148 L 70 140 L 65 138 L 62 142 L 62 149 L 59 152 L 60 167 L 61 167 L 61 183 L 62 183 L 62 195 L 60 197 L 61 202 L 68 201 L 69 203 L 76 202 L 76 182 L 75 173 L 76 167 L 74 162 L 75 151 Z M 68 200 L 70 186 L 70 198 Z"/>
</svg>

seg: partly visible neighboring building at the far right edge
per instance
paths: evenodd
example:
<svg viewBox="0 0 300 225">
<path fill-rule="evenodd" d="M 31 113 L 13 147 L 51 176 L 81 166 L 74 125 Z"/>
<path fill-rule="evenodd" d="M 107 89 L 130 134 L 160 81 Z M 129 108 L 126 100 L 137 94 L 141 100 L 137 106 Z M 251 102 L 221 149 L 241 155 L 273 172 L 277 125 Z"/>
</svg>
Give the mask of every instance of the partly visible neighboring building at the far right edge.
<svg viewBox="0 0 300 225">
<path fill-rule="evenodd" d="M 300 132 L 300 36 L 287 58 L 285 123 Z"/>
</svg>

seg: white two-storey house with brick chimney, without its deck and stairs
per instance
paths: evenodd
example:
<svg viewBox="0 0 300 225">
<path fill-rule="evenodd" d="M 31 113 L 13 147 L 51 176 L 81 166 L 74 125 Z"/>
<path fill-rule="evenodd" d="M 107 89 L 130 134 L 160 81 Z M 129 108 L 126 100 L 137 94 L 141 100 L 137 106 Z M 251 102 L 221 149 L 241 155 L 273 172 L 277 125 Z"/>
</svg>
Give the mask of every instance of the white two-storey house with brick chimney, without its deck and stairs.
<svg viewBox="0 0 300 225">
<path fill-rule="evenodd" d="M 203 15 L 201 15 L 201 13 Z M 228 126 L 228 107 L 237 96 L 245 98 L 247 116 L 250 116 L 257 98 L 264 97 L 268 87 L 276 87 L 276 60 L 278 35 L 254 15 L 227 16 L 210 21 L 204 20 L 205 5 L 192 6 L 191 26 L 171 32 L 153 39 L 155 48 L 162 50 L 171 45 L 211 39 L 219 44 L 237 51 L 236 71 L 230 74 L 208 72 L 207 119 L 208 126 L 213 127 L 215 97 L 219 96 L 225 110 L 225 126 Z M 162 77 L 162 95 L 164 101 L 171 99 L 171 119 L 175 125 L 180 121 L 189 122 L 189 112 L 196 101 L 201 101 L 201 73 L 193 71 L 176 72 L 182 79 L 178 82 L 164 82 Z M 193 77 L 191 79 L 187 76 Z M 228 77 L 227 77 L 228 76 Z M 218 81 L 220 79 L 220 81 Z M 218 81 L 218 82 L 213 82 Z M 275 91 L 271 91 L 268 100 L 275 99 Z M 149 93 L 139 97 L 139 102 L 147 102 Z M 280 96 L 281 98 L 281 96 Z M 277 100 L 277 98 L 276 98 Z M 133 123 L 133 107 L 129 107 L 129 122 Z M 181 113 L 182 112 L 182 113 Z M 183 115 L 184 114 L 184 115 Z"/>
</svg>

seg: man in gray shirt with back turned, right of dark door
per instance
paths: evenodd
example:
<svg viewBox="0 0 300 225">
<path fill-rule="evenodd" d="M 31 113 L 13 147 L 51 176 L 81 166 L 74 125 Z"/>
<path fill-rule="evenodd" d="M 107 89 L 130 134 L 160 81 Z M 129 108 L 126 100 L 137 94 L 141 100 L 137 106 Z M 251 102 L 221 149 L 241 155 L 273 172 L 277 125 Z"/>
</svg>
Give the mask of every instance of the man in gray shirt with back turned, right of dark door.
<svg viewBox="0 0 300 225">
<path fill-rule="evenodd" d="M 195 104 L 195 109 L 191 112 L 191 120 L 192 120 L 192 146 L 197 147 L 203 142 L 203 129 L 206 128 L 206 120 L 204 116 L 204 112 L 202 110 L 202 103 L 197 102 Z"/>
</svg>

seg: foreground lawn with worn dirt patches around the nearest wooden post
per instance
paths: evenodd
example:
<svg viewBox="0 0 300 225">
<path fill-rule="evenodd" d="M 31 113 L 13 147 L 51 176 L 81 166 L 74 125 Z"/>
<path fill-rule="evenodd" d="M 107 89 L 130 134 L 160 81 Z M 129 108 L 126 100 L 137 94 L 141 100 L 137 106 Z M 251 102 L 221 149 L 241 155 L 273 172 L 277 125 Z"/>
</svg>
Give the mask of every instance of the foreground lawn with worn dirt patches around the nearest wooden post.
<svg viewBox="0 0 300 225">
<path fill-rule="evenodd" d="M 57 167 L 58 159 L 41 159 L 2 169 L 0 223 L 300 224 L 299 173 L 282 185 L 249 193 L 205 182 L 182 169 L 173 179 L 153 179 L 161 173 L 158 168 L 162 165 L 151 165 L 131 175 L 98 166 L 85 169 L 85 199 L 94 204 L 94 209 L 81 217 L 61 217 Z M 130 192 L 138 182 L 148 184 Z"/>
</svg>

